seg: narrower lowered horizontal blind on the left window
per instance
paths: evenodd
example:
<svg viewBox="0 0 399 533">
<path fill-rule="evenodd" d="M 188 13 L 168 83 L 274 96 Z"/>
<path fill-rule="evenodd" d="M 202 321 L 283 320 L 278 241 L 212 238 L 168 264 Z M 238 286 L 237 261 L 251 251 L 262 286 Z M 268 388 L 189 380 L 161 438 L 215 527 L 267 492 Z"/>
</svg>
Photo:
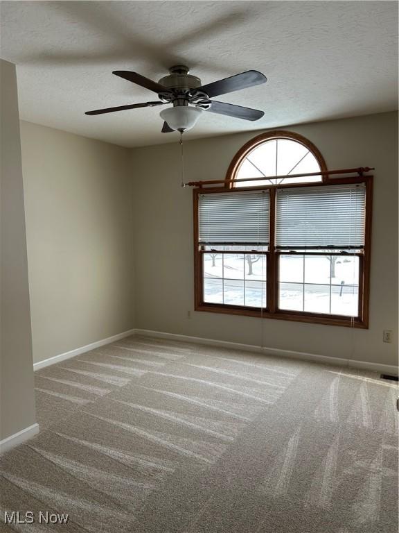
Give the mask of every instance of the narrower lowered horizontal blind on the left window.
<svg viewBox="0 0 399 533">
<path fill-rule="evenodd" d="M 199 196 L 201 244 L 268 244 L 269 192 L 222 192 Z"/>
</svg>

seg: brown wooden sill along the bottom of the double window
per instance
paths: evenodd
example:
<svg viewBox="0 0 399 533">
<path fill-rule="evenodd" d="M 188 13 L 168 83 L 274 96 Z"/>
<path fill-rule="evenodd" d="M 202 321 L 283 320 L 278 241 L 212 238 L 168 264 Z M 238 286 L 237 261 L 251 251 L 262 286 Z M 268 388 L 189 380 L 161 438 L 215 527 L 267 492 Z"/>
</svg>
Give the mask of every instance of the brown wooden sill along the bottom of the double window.
<svg viewBox="0 0 399 533">
<path fill-rule="evenodd" d="M 195 305 L 195 311 L 220 313 L 220 314 L 236 314 L 239 316 L 254 316 L 256 318 L 273 319 L 273 320 L 288 320 L 294 322 L 305 322 L 312 324 L 324 325 L 339 325 L 345 328 L 360 328 L 368 329 L 369 325 L 361 319 L 352 319 L 348 316 L 330 316 L 325 314 L 301 313 L 295 311 L 278 310 L 271 313 L 268 310 L 260 310 L 258 307 L 240 307 L 239 305 L 220 305 L 218 303 L 199 303 Z"/>
</svg>

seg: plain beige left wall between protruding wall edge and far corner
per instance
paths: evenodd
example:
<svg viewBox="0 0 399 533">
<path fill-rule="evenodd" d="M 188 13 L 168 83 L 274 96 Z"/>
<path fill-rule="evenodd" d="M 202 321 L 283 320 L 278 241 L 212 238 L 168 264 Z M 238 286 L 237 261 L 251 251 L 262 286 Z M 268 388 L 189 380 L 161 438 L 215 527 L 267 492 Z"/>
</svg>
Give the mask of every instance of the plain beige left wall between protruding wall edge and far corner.
<svg viewBox="0 0 399 533">
<path fill-rule="evenodd" d="M 131 180 L 119 146 L 21 122 L 35 362 L 134 327 Z"/>
</svg>

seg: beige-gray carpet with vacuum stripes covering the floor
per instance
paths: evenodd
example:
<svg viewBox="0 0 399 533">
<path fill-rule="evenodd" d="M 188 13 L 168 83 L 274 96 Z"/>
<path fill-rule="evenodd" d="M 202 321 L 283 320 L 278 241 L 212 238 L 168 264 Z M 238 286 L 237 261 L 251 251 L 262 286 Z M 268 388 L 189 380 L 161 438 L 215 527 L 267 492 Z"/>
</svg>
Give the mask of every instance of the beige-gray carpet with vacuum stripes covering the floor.
<svg viewBox="0 0 399 533">
<path fill-rule="evenodd" d="M 1 457 L 0 530 L 398 531 L 398 391 L 375 373 L 130 337 L 35 380 L 41 432 Z"/>
</svg>

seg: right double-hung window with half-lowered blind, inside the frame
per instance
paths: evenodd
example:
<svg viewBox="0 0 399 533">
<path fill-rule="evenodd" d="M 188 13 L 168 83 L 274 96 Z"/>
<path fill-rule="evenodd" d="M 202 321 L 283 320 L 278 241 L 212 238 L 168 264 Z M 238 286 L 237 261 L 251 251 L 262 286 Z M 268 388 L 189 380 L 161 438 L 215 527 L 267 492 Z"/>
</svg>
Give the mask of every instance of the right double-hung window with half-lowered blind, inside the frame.
<svg viewBox="0 0 399 533">
<path fill-rule="evenodd" d="M 278 308 L 358 316 L 365 198 L 363 183 L 276 190 Z"/>
</svg>

